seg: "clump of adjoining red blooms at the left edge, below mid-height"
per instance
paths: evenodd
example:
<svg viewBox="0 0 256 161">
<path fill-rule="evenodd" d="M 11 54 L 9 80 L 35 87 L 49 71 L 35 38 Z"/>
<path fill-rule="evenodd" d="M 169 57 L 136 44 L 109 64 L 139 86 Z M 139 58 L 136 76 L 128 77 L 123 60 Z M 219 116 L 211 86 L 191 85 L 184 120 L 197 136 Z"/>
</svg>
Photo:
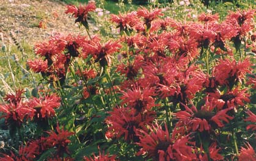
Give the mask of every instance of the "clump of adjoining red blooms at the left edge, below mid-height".
<svg viewBox="0 0 256 161">
<path fill-rule="evenodd" d="M 24 90 L 16 90 L 15 94 L 5 96 L 6 104 L 0 104 L 5 123 L 13 129 L 11 135 L 15 135 L 15 132 L 27 121 L 46 123 L 55 116 L 54 109 L 60 107 L 60 98 L 55 93 L 30 99 L 24 99 L 23 93 Z"/>
</svg>

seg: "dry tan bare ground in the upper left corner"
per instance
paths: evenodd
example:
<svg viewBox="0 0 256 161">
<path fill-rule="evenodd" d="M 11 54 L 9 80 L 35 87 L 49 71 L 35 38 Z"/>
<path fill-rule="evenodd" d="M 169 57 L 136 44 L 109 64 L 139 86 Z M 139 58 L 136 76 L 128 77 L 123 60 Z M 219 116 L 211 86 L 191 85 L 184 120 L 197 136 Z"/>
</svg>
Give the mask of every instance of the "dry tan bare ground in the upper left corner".
<svg viewBox="0 0 256 161">
<path fill-rule="evenodd" d="M 0 0 L 0 34 L 4 35 L 4 43 L 13 43 L 11 31 L 18 41 L 30 45 L 56 33 L 78 34 L 75 19 L 64 13 L 66 5 L 57 0 Z"/>
</svg>

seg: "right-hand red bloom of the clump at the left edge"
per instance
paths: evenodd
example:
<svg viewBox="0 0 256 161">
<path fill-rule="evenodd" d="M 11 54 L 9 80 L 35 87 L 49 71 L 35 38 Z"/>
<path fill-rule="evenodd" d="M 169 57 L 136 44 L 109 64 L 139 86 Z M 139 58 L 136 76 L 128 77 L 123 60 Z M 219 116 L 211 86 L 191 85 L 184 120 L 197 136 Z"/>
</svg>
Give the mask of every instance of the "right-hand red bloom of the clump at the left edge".
<svg viewBox="0 0 256 161">
<path fill-rule="evenodd" d="M 56 94 L 40 98 L 32 98 L 28 102 L 31 109 L 35 109 L 35 118 L 51 118 L 55 116 L 54 109 L 59 108 L 60 98 Z"/>
</svg>

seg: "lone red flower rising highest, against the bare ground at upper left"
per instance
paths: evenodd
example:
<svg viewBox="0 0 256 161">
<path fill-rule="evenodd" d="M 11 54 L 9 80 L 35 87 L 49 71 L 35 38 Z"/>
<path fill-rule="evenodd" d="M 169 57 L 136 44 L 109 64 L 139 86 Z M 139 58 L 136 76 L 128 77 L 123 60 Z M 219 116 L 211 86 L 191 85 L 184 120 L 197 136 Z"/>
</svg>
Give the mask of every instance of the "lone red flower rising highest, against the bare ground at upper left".
<svg viewBox="0 0 256 161">
<path fill-rule="evenodd" d="M 87 5 L 76 7 L 75 5 L 67 5 L 65 13 L 72 13 L 75 16 L 75 23 L 82 23 L 86 28 L 88 27 L 87 16 L 89 12 L 95 11 L 96 5 L 94 1 L 89 1 Z"/>
</svg>

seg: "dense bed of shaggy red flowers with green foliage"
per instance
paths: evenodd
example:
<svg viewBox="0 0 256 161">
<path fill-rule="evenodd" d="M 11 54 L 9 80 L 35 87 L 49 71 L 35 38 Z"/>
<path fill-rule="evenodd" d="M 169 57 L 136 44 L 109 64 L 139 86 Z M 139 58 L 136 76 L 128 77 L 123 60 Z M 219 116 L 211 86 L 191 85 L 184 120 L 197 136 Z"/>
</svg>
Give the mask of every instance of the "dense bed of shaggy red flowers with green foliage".
<svg viewBox="0 0 256 161">
<path fill-rule="evenodd" d="M 90 35 L 95 9 L 67 6 L 88 36 L 35 46 L 42 84 L 0 105 L 22 141 L 0 160 L 256 160 L 256 10 L 180 22 L 141 7 L 111 15 L 119 36 L 104 40 Z"/>
</svg>

